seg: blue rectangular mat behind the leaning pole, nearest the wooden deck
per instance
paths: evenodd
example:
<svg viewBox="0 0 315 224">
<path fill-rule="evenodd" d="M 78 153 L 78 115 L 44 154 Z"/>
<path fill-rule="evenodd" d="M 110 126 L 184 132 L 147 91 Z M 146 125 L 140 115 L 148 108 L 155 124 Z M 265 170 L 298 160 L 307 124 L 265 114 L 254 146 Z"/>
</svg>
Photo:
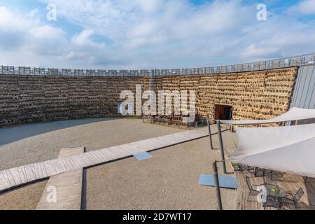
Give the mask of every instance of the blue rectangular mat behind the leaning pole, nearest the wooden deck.
<svg viewBox="0 0 315 224">
<path fill-rule="evenodd" d="M 237 189 L 237 179 L 234 176 L 218 176 L 221 188 Z M 201 174 L 199 184 L 214 187 L 213 174 Z"/>
</svg>

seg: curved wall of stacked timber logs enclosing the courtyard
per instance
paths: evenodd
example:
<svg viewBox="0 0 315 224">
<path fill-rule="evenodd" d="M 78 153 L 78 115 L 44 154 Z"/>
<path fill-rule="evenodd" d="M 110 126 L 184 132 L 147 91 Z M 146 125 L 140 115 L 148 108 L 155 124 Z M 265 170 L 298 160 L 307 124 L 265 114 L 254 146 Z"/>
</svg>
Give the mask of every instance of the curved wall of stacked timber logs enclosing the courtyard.
<svg viewBox="0 0 315 224">
<path fill-rule="evenodd" d="M 297 67 L 190 76 L 0 75 L 0 127 L 55 119 L 117 115 L 120 92 L 196 90 L 197 114 L 214 119 L 214 106 L 233 106 L 233 118 L 265 119 L 289 108 Z M 151 80 L 151 81 L 150 81 Z"/>
</svg>

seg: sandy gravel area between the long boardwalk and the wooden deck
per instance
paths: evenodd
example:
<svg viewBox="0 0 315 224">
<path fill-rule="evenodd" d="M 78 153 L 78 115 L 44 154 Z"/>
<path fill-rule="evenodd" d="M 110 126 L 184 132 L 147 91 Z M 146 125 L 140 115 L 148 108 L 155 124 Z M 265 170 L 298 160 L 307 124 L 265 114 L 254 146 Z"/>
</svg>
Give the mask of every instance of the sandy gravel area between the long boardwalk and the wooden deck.
<svg viewBox="0 0 315 224">
<path fill-rule="evenodd" d="M 208 138 L 152 155 L 87 169 L 85 209 L 216 209 L 215 189 L 198 184 L 200 174 L 211 174 L 212 162 L 220 160 Z M 221 195 L 224 209 L 235 209 L 236 190 L 221 189 Z"/>
</svg>

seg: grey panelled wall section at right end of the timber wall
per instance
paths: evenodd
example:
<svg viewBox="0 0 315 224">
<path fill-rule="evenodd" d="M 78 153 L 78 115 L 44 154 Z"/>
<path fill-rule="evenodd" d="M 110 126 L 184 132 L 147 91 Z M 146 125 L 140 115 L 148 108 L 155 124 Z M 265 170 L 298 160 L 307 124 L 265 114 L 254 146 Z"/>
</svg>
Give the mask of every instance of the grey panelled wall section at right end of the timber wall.
<svg viewBox="0 0 315 224">
<path fill-rule="evenodd" d="M 315 109 L 315 65 L 300 66 L 290 107 Z"/>
</svg>

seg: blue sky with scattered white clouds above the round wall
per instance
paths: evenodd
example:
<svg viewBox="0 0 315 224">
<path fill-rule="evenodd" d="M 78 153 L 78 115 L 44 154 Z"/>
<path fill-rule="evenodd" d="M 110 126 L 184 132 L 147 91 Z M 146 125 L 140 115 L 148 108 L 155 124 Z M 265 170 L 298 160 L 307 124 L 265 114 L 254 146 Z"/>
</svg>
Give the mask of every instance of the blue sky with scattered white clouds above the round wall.
<svg viewBox="0 0 315 224">
<path fill-rule="evenodd" d="M 176 69 L 314 51 L 315 0 L 0 0 L 3 65 Z"/>
</svg>

